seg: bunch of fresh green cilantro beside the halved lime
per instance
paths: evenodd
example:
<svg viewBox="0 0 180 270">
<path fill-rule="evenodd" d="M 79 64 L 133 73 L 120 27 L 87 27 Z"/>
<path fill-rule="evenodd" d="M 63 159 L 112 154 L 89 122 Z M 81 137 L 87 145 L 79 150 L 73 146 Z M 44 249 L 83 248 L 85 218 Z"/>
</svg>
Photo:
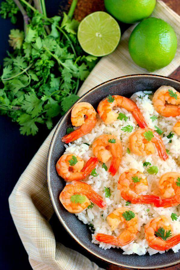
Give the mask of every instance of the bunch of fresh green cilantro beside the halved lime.
<svg viewBox="0 0 180 270">
<path fill-rule="evenodd" d="M 82 51 L 77 40 L 79 22 L 72 19 L 76 0 L 63 18 L 47 18 L 44 0 L 40 10 L 37 1 L 16 1 L 17 8 L 6 0 L 0 11 L 2 17 L 12 18 L 20 10 L 25 23 L 24 32 L 10 32 L 14 51 L 4 59 L 0 89 L 0 114 L 19 123 L 23 135 L 35 135 L 39 124 L 52 128 L 53 117 L 63 115 L 79 98 L 79 85 L 97 60 Z"/>
</svg>

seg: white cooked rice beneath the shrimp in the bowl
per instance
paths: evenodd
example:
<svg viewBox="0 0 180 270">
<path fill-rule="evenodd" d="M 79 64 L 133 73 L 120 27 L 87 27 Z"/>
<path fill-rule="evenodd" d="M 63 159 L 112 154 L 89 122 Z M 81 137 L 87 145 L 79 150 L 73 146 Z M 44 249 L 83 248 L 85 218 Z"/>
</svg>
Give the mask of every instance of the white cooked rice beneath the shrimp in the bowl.
<svg viewBox="0 0 180 270">
<path fill-rule="evenodd" d="M 93 156 L 92 148 L 90 146 L 87 146 L 83 143 L 92 144 L 95 138 L 99 137 L 101 134 L 113 134 L 118 139 L 121 139 L 122 141 L 122 147 L 123 147 L 123 158 L 122 163 L 119 167 L 119 171 L 116 173 L 115 176 L 111 176 L 108 171 L 106 172 L 102 168 L 102 163 L 98 163 L 96 167 L 96 172 L 98 173 L 97 177 L 88 176 L 85 180 L 86 183 L 90 184 L 91 187 L 103 197 L 104 201 L 107 204 L 106 210 L 102 210 L 98 206 L 94 205 L 91 209 L 86 209 L 82 211 L 79 214 L 76 214 L 79 220 L 81 220 L 85 224 L 93 223 L 94 231 L 91 230 L 92 233 L 92 243 L 99 244 L 99 247 L 104 248 L 105 250 L 107 248 L 119 248 L 114 245 L 100 243 L 97 240 L 95 240 L 94 234 L 96 233 L 105 233 L 109 235 L 119 235 L 119 229 L 117 228 L 115 231 L 111 231 L 111 227 L 106 222 L 106 217 L 108 214 L 110 214 L 112 211 L 114 211 L 118 207 L 125 206 L 126 201 L 122 199 L 120 195 L 120 191 L 117 190 L 117 183 L 120 174 L 122 174 L 124 171 L 128 169 L 137 169 L 141 172 L 143 172 L 149 183 L 149 188 L 147 192 L 143 194 L 155 194 L 159 195 L 158 190 L 158 181 L 162 174 L 167 172 L 178 172 L 180 173 L 180 168 L 178 167 L 177 163 L 180 161 L 179 153 L 180 153 L 180 138 L 178 138 L 177 134 L 175 133 L 172 138 L 172 143 L 169 143 L 169 140 L 166 136 L 170 133 L 170 131 L 173 131 L 173 126 L 177 122 L 177 120 L 180 119 L 180 116 L 177 117 L 162 117 L 160 116 L 154 109 L 152 104 L 152 92 L 137 92 L 134 95 L 132 95 L 131 99 L 133 99 L 137 106 L 140 108 L 141 112 L 143 113 L 143 116 L 149 125 L 150 128 L 155 129 L 154 126 L 158 126 L 161 130 L 164 132 L 164 137 L 162 138 L 164 141 L 165 148 L 169 150 L 169 159 L 167 161 L 163 161 L 159 158 L 157 150 L 155 150 L 155 153 L 153 155 L 140 157 L 133 153 L 128 154 L 127 148 L 129 147 L 129 136 L 136 130 L 138 130 L 138 126 L 136 121 L 134 120 L 131 113 L 129 113 L 127 110 L 123 108 L 117 108 L 119 112 L 125 113 L 126 116 L 128 116 L 128 120 L 125 122 L 124 120 L 117 120 L 111 125 L 105 125 L 104 122 L 98 117 L 98 122 L 95 126 L 95 128 L 92 129 L 92 131 L 83 136 L 82 138 L 79 138 L 73 143 L 69 143 L 69 145 L 65 145 L 65 153 L 72 153 L 76 154 L 79 157 L 83 158 L 84 161 L 88 161 L 88 159 Z M 139 98 L 141 97 L 141 98 Z M 152 119 L 150 119 L 151 116 L 156 115 L 158 116 L 158 119 L 152 122 Z M 132 125 L 134 127 L 132 133 L 125 133 L 121 130 L 122 126 L 126 125 Z M 173 132 L 174 133 L 174 132 Z M 143 167 L 143 162 L 149 161 L 152 165 L 156 165 L 158 167 L 158 173 L 157 175 L 153 174 L 150 175 L 147 173 L 147 169 Z M 107 167 L 110 166 L 110 161 L 107 162 Z M 70 184 L 68 182 L 67 184 Z M 105 197 L 104 193 L 104 187 L 110 187 L 111 190 L 111 196 L 110 198 Z M 176 235 L 180 233 L 180 206 L 174 206 L 170 208 L 156 208 L 153 205 L 150 204 L 131 204 L 128 206 L 132 209 L 134 213 L 138 216 L 138 234 L 136 240 L 132 241 L 130 244 L 127 244 L 122 248 L 124 250 L 123 254 L 138 254 L 143 255 L 146 252 L 149 252 L 149 255 L 155 254 L 155 253 L 164 253 L 164 251 L 158 251 L 154 250 L 151 247 L 148 246 L 148 242 L 145 239 L 144 234 L 144 226 L 146 223 L 149 222 L 154 217 L 159 217 L 160 215 L 165 215 L 168 217 L 168 219 L 171 222 L 172 228 L 173 228 L 173 235 Z M 149 209 L 149 212 L 146 210 Z M 176 213 L 179 217 L 177 221 L 172 221 L 171 214 Z M 180 249 L 180 243 L 176 246 L 172 247 L 172 250 L 176 253 Z"/>
</svg>

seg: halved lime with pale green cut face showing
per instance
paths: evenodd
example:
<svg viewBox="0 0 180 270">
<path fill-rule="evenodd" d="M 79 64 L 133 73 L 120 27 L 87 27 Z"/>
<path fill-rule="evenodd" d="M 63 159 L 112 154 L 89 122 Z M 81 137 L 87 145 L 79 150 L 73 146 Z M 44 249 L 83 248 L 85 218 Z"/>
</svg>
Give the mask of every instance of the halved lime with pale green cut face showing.
<svg viewBox="0 0 180 270">
<path fill-rule="evenodd" d="M 82 49 L 94 56 L 104 56 L 118 46 L 121 30 L 116 20 L 106 12 L 97 11 L 79 24 L 77 38 Z"/>
</svg>

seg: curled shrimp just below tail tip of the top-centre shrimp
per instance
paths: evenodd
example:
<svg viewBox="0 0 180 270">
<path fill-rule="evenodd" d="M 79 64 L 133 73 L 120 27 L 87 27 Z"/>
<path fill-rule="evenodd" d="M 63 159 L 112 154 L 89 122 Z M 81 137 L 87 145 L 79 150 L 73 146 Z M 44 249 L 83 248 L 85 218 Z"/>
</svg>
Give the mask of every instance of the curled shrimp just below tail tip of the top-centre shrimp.
<svg viewBox="0 0 180 270">
<path fill-rule="evenodd" d="M 151 141 L 145 139 L 144 133 L 146 131 L 152 131 L 154 137 L 151 139 Z M 146 156 L 154 154 L 155 152 L 155 148 L 153 146 L 154 143 L 158 150 L 159 157 L 163 160 L 167 160 L 168 158 L 161 136 L 156 131 L 150 128 L 139 129 L 135 131 L 129 137 L 129 143 L 130 143 L 130 150 L 138 156 Z"/>
</svg>

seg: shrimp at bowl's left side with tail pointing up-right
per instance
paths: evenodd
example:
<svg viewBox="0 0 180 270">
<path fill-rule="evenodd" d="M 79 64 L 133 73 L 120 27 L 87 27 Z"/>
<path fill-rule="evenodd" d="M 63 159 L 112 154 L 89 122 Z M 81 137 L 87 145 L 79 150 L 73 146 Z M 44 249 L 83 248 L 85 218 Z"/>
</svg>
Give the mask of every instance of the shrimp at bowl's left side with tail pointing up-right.
<svg viewBox="0 0 180 270">
<path fill-rule="evenodd" d="M 70 160 L 75 157 L 77 162 L 70 165 Z M 65 181 L 80 181 L 83 180 L 98 164 L 98 158 L 91 157 L 84 166 L 84 161 L 74 154 L 62 155 L 56 163 L 56 171 L 59 176 L 64 178 Z"/>
</svg>

